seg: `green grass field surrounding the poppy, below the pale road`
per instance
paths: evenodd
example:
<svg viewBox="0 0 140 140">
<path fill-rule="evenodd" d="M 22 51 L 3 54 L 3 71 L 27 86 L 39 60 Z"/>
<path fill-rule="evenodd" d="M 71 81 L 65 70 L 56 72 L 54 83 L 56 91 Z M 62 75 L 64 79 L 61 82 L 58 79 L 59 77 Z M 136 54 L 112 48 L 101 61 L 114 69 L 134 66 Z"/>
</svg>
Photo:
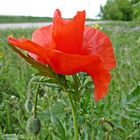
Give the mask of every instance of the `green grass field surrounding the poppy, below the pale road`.
<svg viewBox="0 0 140 140">
<path fill-rule="evenodd" d="M 140 139 L 140 29 L 136 26 L 138 24 L 134 23 L 100 25 L 113 43 L 117 68 L 111 72 L 107 96 L 98 103 L 93 100 L 91 80 L 78 74 L 81 83 L 87 78 L 77 108 L 81 140 Z M 32 32 L 33 29 L 14 29 L 1 30 L 0 34 L 31 39 Z M 41 132 L 37 137 L 26 132 L 26 122 L 31 115 L 25 111 L 24 104 L 28 83 L 36 72 L 0 42 L 0 139 L 72 140 L 72 116 L 67 97 L 55 84 L 45 82 L 41 83 L 37 110 Z M 31 92 L 33 102 L 35 86 Z"/>
</svg>

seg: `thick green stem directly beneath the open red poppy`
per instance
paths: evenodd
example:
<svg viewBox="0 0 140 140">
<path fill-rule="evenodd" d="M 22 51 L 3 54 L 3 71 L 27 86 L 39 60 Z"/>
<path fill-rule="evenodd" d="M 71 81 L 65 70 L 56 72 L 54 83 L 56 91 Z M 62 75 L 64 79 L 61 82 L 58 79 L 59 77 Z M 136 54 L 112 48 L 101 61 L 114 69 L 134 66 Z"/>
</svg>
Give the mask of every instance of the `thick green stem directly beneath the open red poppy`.
<svg viewBox="0 0 140 140">
<path fill-rule="evenodd" d="M 77 114 L 76 114 L 76 109 L 72 101 L 72 97 L 70 93 L 68 93 L 68 98 L 71 104 L 72 108 L 72 117 L 73 117 L 73 126 L 74 126 L 74 135 L 75 135 L 75 140 L 79 140 L 79 132 L 78 132 L 78 123 L 77 123 Z"/>
</svg>

